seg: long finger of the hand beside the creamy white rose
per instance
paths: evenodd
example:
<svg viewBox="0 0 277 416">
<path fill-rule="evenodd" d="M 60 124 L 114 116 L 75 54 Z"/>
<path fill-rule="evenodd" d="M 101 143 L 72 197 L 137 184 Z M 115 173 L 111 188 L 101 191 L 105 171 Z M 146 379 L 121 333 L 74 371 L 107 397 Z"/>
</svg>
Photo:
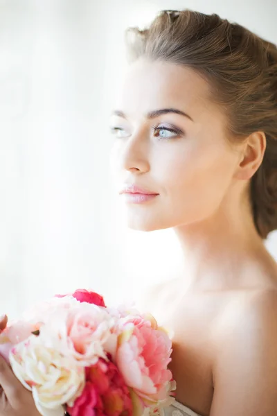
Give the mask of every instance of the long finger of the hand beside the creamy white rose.
<svg viewBox="0 0 277 416">
<path fill-rule="evenodd" d="M 21 385 L 15 374 L 13 374 L 10 365 L 8 365 L 2 356 L 0 356 L 0 385 L 10 405 L 14 406 L 18 401 L 23 385 Z"/>
</svg>

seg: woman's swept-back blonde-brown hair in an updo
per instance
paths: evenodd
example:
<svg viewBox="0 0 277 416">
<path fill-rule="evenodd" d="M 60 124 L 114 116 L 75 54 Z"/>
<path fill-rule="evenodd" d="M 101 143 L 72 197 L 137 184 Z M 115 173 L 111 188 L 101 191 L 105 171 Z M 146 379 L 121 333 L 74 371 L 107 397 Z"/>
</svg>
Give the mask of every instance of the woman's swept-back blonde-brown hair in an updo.
<svg viewBox="0 0 277 416">
<path fill-rule="evenodd" d="M 163 11 L 149 28 L 129 28 L 130 61 L 141 56 L 198 71 L 226 109 L 233 139 L 265 132 L 265 157 L 251 179 L 251 207 L 263 239 L 277 229 L 277 49 L 239 24 L 190 10 Z"/>
</svg>

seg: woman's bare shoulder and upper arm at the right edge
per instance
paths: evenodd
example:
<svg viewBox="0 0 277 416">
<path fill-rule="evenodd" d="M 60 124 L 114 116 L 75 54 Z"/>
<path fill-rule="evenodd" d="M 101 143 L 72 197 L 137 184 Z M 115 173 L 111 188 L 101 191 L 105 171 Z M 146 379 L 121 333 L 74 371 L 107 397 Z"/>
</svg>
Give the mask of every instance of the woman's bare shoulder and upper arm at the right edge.
<svg viewBox="0 0 277 416">
<path fill-rule="evenodd" d="M 211 415 L 276 415 L 277 290 L 233 303 L 218 334 Z"/>
</svg>

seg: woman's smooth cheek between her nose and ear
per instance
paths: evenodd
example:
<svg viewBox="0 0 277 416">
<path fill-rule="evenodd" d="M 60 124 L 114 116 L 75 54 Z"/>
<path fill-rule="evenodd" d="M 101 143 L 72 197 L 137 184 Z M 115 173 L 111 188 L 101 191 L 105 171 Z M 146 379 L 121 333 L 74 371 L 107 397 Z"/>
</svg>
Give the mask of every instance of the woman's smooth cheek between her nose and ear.
<svg viewBox="0 0 277 416">
<path fill-rule="evenodd" d="M 215 209 L 231 184 L 235 167 L 231 150 L 220 146 L 186 148 L 163 159 L 162 183 L 170 203 L 184 211 Z"/>
</svg>

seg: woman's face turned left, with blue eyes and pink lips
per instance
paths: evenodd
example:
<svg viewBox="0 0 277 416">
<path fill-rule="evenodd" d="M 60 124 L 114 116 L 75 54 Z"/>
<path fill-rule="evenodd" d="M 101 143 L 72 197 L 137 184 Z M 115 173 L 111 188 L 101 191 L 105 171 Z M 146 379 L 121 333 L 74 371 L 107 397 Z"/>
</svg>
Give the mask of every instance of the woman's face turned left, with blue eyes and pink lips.
<svg viewBox="0 0 277 416">
<path fill-rule="evenodd" d="M 129 67 L 111 118 L 112 166 L 129 227 L 190 225 L 222 206 L 239 153 L 209 94 L 192 69 L 142 59 Z"/>
</svg>

